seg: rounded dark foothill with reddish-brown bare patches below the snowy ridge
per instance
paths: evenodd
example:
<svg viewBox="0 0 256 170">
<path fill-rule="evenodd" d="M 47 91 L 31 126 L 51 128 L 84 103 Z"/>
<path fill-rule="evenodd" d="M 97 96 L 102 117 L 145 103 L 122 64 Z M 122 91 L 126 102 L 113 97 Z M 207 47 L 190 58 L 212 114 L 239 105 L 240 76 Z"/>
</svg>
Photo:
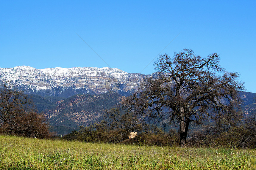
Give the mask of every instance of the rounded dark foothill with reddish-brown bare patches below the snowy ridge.
<svg viewBox="0 0 256 170">
<path fill-rule="evenodd" d="M 52 126 L 77 128 L 103 120 L 106 109 L 121 102 L 122 96 L 114 92 L 101 95 L 75 95 L 44 110 Z"/>
</svg>

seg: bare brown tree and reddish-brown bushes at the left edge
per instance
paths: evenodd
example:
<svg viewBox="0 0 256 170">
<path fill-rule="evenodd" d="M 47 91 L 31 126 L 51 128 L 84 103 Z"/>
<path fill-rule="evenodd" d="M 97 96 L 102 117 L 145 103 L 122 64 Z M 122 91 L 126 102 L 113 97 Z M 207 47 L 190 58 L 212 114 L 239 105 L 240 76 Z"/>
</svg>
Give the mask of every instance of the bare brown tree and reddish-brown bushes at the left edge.
<svg viewBox="0 0 256 170">
<path fill-rule="evenodd" d="M 13 90 L 10 82 L 0 89 L 0 133 L 27 137 L 49 138 L 46 118 L 38 114 L 33 101 L 20 90 Z"/>
</svg>

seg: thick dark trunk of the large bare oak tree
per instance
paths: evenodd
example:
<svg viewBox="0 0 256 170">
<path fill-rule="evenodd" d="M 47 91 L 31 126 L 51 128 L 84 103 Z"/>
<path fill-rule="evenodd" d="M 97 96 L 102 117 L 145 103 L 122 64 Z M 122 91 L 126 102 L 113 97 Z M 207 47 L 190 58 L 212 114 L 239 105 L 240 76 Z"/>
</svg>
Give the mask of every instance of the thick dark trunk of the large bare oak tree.
<svg viewBox="0 0 256 170">
<path fill-rule="evenodd" d="M 179 121 L 179 146 L 186 147 L 189 121 L 185 118 Z"/>
</svg>

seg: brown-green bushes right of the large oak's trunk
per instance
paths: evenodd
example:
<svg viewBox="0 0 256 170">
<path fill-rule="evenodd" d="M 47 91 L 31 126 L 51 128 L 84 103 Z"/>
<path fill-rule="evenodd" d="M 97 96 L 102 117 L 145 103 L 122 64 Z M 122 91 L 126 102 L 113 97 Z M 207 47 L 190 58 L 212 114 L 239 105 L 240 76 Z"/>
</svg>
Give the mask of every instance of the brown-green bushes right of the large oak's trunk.
<svg viewBox="0 0 256 170">
<path fill-rule="evenodd" d="M 226 130 L 206 125 L 193 131 L 190 146 L 256 148 L 256 115 L 244 118 Z"/>
</svg>

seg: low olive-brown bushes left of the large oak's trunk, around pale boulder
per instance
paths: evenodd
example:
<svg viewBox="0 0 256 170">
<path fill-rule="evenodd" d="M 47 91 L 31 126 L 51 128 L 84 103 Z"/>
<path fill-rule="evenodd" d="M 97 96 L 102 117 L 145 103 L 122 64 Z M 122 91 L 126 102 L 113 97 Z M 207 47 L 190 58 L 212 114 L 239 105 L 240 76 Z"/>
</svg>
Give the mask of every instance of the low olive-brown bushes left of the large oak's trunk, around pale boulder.
<svg viewBox="0 0 256 170">
<path fill-rule="evenodd" d="M 123 134 L 123 139 L 121 139 Z M 82 142 L 103 142 L 103 143 L 122 143 L 139 145 L 158 145 L 158 146 L 176 146 L 179 137 L 176 131 L 171 130 L 168 134 L 162 130 L 138 133 L 138 136 L 129 139 L 129 133 L 123 129 L 111 130 L 110 126 L 103 121 L 100 124 L 94 124 L 88 127 L 80 126 L 79 131 L 72 131 L 71 134 L 62 137 L 64 140 L 78 140 Z"/>
</svg>

